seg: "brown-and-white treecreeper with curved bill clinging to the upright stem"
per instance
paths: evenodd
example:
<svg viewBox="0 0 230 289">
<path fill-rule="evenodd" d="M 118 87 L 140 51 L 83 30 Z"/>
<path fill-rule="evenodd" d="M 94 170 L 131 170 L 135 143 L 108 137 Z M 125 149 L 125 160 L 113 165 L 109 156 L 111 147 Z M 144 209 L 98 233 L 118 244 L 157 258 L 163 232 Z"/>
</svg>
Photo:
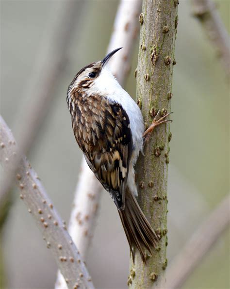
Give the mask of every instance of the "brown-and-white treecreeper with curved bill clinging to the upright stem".
<svg viewBox="0 0 230 289">
<path fill-rule="evenodd" d="M 170 113 L 157 120 L 159 111 L 145 131 L 139 106 L 107 65 L 120 49 L 83 67 L 68 86 L 66 100 L 75 139 L 88 166 L 115 203 L 132 258 L 136 248 L 146 262 L 145 249 L 152 255 L 159 236 L 136 200 L 134 165 L 145 138 L 148 140 L 156 126 L 170 121 L 165 119 Z"/>
</svg>

